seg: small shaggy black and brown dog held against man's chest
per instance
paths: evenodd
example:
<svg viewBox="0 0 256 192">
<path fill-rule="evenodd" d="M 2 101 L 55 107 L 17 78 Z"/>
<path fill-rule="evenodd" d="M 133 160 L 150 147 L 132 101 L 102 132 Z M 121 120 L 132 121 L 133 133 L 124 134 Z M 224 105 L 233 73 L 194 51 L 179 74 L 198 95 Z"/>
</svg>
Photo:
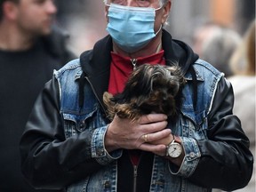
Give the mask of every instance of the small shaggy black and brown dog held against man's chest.
<svg viewBox="0 0 256 192">
<path fill-rule="evenodd" d="M 141 115 L 161 113 L 175 119 L 185 83 L 178 65 L 141 65 L 128 78 L 124 92 L 115 96 L 104 92 L 103 101 L 108 110 L 108 118 L 113 120 L 117 115 L 134 121 Z"/>
</svg>

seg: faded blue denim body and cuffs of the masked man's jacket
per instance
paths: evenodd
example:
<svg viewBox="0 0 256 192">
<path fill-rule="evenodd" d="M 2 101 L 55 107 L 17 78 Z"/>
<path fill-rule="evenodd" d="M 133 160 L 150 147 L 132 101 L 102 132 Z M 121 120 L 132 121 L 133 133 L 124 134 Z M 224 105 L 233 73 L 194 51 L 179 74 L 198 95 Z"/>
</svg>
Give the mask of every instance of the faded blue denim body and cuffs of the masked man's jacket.
<svg viewBox="0 0 256 192">
<path fill-rule="evenodd" d="M 197 80 L 203 82 L 198 86 L 197 110 L 195 112 L 190 97 L 193 95 L 193 89 L 186 84 L 183 90 L 186 100 L 181 107 L 182 115 L 176 126 L 172 127 L 172 132 L 181 136 L 186 156 L 179 170 L 172 167 L 172 164 L 163 157 L 155 156 L 150 191 L 209 191 L 207 188 L 192 184 L 186 178 L 193 174 L 201 156 L 196 140 L 207 139 L 207 115 L 211 110 L 212 95 L 222 75 L 204 60 L 196 60 L 194 68 Z M 70 186 L 68 192 L 116 191 L 116 159 L 122 156 L 122 150 L 108 154 L 104 148 L 108 122 L 100 111 L 100 104 L 93 93 L 90 81 L 84 85 L 84 108 L 79 108 L 76 92 L 79 92 L 77 81 L 82 72 L 79 60 L 73 60 L 54 73 L 60 86 L 60 113 L 65 120 L 65 135 L 68 139 L 83 132 L 84 129 L 92 130 L 92 157 L 95 157 L 99 164 L 106 166 L 100 172 L 93 173 L 85 180 Z M 189 74 L 185 77 L 188 81 L 192 80 Z M 205 79 L 207 81 L 204 81 Z"/>
</svg>

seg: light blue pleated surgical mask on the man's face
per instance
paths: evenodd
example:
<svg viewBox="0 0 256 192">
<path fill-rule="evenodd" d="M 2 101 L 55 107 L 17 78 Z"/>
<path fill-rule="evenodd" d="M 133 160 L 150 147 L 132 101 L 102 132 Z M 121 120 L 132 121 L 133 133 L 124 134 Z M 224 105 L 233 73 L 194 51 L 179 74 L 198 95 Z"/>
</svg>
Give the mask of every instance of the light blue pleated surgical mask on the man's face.
<svg viewBox="0 0 256 192">
<path fill-rule="evenodd" d="M 131 7 L 110 4 L 107 31 L 124 52 L 137 52 L 160 31 L 154 31 L 156 10 L 151 7 Z"/>
</svg>

